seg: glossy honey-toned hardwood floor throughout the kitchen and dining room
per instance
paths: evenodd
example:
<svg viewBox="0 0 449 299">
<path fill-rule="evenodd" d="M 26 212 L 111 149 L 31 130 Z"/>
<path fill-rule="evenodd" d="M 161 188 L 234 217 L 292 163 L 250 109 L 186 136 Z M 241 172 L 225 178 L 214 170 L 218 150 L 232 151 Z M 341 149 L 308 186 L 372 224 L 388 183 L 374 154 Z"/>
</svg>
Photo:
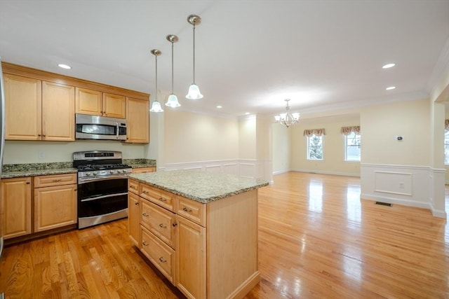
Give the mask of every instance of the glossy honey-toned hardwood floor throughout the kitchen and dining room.
<svg viewBox="0 0 449 299">
<path fill-rule="evenodd" d="M 246 298 L 449 298 L 447 221 L 359 197 L 354 177 L 274 176 L 259 190 L 261 281 Z M 182 298 L 131 246 L 126 225 L 114 221 L 8 246 L 0 292 Z"/>
</svg>

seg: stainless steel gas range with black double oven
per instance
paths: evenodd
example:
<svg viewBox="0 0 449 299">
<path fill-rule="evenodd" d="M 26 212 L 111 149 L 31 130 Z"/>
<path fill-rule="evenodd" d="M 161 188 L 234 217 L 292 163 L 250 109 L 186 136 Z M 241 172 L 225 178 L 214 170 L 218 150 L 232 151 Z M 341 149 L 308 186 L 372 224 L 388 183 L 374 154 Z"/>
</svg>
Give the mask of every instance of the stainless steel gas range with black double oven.
<svg viewBox="0 0 449 299">
<path fill-rule="evenodd" d="M 128 174 L 119 151 L 73 153 L 78 169 L 78 228 L 128 216 Z"/>
</svg>

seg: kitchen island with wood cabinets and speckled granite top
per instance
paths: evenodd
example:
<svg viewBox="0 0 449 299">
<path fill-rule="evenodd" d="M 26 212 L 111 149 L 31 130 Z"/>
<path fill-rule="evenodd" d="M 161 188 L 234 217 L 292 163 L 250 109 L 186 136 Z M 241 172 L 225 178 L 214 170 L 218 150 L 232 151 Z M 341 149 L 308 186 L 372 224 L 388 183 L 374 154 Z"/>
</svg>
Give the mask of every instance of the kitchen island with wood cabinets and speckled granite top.
<svg viewBox="0 0 449 299">
<path fill-rule="evenodd" d="M 257 189 L 267 185 L 200 171 L 130 174 L 130 239 L 187 298 L 243 298 L 260 280 Z"/>
</svg>

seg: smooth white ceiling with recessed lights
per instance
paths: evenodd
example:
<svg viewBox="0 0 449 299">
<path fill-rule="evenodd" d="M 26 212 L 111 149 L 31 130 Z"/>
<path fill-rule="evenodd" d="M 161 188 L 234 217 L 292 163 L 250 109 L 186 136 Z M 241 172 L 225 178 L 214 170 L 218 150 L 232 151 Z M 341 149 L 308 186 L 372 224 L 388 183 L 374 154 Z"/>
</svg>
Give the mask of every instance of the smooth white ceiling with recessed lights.
<svg viewBox="0 0 449 299">
<path fill-rule="evenodd" d="M 195 101 L 185 99 L 192 13 L 202 19 L 196 83 L 204 97 Z M 290 98 L 292 111 L 311 113 L 427 97 L 446 67 L 449 0 L 0 0 L 2 60 L 153 95 L 156 48 L 161 102 L 171 88 L 167 34 L 180 39 L 180 109 L 274 114 Z M 389 62 L 396 67 L 382 69 Z"/>
</svg>

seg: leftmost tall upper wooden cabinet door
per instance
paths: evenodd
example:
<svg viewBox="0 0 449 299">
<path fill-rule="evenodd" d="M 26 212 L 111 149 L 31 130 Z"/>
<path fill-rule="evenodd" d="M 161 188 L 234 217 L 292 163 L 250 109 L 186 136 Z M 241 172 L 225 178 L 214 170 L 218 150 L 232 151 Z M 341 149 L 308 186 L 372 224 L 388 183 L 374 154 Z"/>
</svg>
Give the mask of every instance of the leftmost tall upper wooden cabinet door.
<svg viewBox="0 0 449 299">
<path fill-rule="evenodd" d="M 4 74 L 5 139 L 41 139 L 41 81 Z"/>
</svg>

